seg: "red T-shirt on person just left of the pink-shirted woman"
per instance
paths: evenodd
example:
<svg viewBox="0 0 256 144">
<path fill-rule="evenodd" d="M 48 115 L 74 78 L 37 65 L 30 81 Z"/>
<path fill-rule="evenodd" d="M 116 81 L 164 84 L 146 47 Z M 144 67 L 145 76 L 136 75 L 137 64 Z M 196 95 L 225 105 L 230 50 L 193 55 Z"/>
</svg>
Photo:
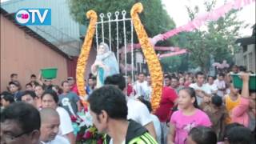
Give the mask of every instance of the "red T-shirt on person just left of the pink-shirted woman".
<svg viewBox="0 0 256 144">
<path fill-rule="evenodd" d="M 174 89 L 164 86 L 162 88 L 162 98 L 160 102 L 160 106 L 155 111 L 155 115 L 158 116 L 160 122 L 166 122 L 171 114 L 172 114 L 172 108 L 174 106 L 174 102 L 178 98 L 176 92 Z"/>
</svg>

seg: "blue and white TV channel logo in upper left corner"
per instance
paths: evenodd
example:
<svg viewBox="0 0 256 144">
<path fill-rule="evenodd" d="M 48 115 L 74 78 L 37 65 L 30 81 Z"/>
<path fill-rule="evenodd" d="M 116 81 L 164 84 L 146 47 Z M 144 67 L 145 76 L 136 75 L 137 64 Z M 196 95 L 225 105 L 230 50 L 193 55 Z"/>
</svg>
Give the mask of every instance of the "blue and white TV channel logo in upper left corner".
<svg viewBox="0 0 256 144">
<path fill-rule="evenodd" d="M 51 25 L 51 9 L 21 9 L 15 14 L 18 24 L 23 26 Z"/>
</svg>

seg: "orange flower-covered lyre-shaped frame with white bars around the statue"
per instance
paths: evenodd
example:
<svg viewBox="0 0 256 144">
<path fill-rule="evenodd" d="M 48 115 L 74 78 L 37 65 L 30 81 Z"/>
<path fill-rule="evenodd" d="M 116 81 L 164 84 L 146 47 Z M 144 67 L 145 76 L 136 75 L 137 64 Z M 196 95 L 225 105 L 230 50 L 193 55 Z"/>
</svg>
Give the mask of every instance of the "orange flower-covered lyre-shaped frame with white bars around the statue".
<svg viewBox="0 0 256 144">
<path fill-rule="evenodd" d="M 124 41 L 125 41 L 125 51 L 126 51 L 126 29 L 125 29 L 125 25 L 126 25 L 126 21 L 131 21 L 131 27 L 135 28 L 135 31 L 138 35 L 138 40 L 139 43 L 142 46 L 142 52 L 146 57 L 146 61 L 148 63 L 148 67 L 150 70 L 150 74 L 151 74 L 151 79 L 152 79 L 152 87 L 153 87 L 153 93 L 152 93 L 152 99 L 151 99 L 151 104 L 153 107 L 153 110 L 156 110 L 158 108 L 158 104 L 160 102 L 161 96 L 162 96 L 162 68 L 160 65 L 160 62 L 158 60 L 157 55 L 154 52 L 154 48 L 153 46 L 151 46 L 149 38 L 146 34 L 146 30 L 144 29 L 142 22 L 140 21 L 139 17 L 138 17 L 138 13 L 141 13 L 143 10 L 142 7 L 142 3 L 138 2 L 136 3 L 131 11 L 131 18 L 126 18 L 126 11 L 122 11 L 122 19 L 118 19 L 117 16 L 117 12 L 116 14 L 116 18 L 115 19 L 111 19 L 111 14 L 107 14 L 108 17 L 108 21 L 103 21 L 104 18 L 104 14 L 100 14 L 100 18 L 101 18 L 101 22 L 97 22 L 97 14 L 94 12 L 94 10 L 90 10 L 87 12 L 87 18 L 90 18 L 90 25 L 89 28 L 86 32 L 86 37 L 85 37 L 85 41 L 83 43 L 82 46 L 82 50 L 81 50 L 81 54 L 79 55 L 78 58 L 78 65 L 77 65 L 77 85 L 78 85 L 78 91 L 79 94 L 81 95 L 80 98 L 82 99 L 82 103 L 84 104 L 84 106 L 87 106 L 87 102 L 86 102 L 86 92 L 84 90 L 84 73 L 85 73 L 85 69 L 86 69 L 86 62 L 87 59 L 89 58 L 89 54 L 90 54 L 90 48 L 92 45 L 92 40 L 94 38 L 94 33 L 96 30 L 96 42 L 97 42 L 97 46 L 98 46 L 98 30 L 97 27 L 98 25 L 102 25 L 102 42 L 104 42 L 104 23 L 108 22 L 109 23 L 109 30 L 110 30 L 110 22 L 117 22 L 117 26 L 118 26 L 118 22 L 123 22 L 123 26 L 124 26 Z M 133 31 L 133 28 L 132 28 Z M 111 37 L 111 34 L 109 34 L 109 37 Z M 133 36 L 131 37 L 133 38 Z M 118 41 L 118 39 L 117 39 Z M 98 47 L 97 47 L 98 49 Z M 111 49 L 111 48 L 110 48 Z M 133 55 L 133 49 L 132 51 L 132 57 Z M 126 57 L 126 54 L 125 54 Z M 132 58 L 133 59 L 133 58 Z M 125 58 L 126 61 L 126 58 Z M 126 63 L 126 62 L 125 62 Z M 134 65 L 134 62 L 132 63 Z M 127 65 L 127 64 L 126 64 Z M 126 66 L 127 68 L 127 66 Z M 126 75 L 127 75 L 127 71 L 126 71 Z"/>
</svg>

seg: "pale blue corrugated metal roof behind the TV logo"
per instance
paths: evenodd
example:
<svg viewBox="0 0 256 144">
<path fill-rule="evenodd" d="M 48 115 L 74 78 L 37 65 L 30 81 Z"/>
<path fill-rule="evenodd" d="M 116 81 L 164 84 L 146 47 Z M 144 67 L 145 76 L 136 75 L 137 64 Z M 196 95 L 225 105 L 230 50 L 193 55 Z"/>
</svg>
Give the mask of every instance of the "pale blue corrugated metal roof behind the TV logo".
<svg viewBox="0 0 256 144">
<path fill-rule="evenodd" d="M 1 7 L 8 13 L 16 13 L 25 8 L 50 8 L 50 26 L 27 26 L 35 33 L 46 38 L 58 49 L 71 56 L 80 54 L 82 41 L 79 24 L 70 15 L 69 0 L 10 0 L 2 2 Z"/>
</svg>

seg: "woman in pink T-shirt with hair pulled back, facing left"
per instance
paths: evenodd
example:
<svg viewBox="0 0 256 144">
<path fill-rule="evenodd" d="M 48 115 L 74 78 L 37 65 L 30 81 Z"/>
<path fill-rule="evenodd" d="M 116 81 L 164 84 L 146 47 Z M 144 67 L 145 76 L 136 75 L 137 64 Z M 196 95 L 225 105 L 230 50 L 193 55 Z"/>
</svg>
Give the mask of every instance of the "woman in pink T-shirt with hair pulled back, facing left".
<svg viewBox="0 0 256 144">
<path fill-rule="evenodd" d="M 198 109 L 193 88 L 186 87 L 178 93 L 178 111 L 170 118 L 168 144 L 184 144 L 190 130 L 195 126 L 211 126 L 210 118 Z"/>
</svg>

